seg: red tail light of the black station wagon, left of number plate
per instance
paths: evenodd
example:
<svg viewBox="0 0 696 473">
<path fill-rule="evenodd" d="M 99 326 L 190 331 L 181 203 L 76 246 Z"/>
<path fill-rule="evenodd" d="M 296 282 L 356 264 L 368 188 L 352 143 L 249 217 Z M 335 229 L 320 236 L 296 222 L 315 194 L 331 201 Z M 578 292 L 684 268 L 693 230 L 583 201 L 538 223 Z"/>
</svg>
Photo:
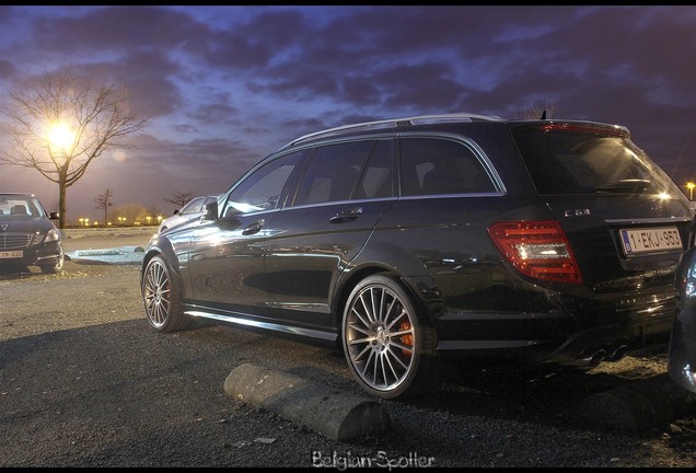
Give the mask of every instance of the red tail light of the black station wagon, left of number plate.
<svg viewBox="0 0 696 473">
<path fill-rule="evenodd" d="M 488 234 L 520 273 L 547 281 L 582 284 L 576 256 L 557 221 L 500 222 L 490 227 Z"/>
</svg>

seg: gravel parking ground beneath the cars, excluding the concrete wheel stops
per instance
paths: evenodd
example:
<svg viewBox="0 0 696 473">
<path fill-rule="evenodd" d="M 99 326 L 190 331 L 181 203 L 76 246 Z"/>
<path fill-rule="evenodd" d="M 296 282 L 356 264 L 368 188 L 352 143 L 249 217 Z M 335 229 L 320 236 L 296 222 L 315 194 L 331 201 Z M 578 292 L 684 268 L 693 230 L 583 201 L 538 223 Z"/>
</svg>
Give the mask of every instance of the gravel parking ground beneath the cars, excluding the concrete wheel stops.
<svg viewBox="0 0 696 473">
<path fill-rule="evenodd" d="M 85 238 L 66 251 L 146 244 Z M 343 355 L 235 328 L 161 335 L 136 265 L 0 274 L 0 468 L 693 468 L 696 412 L 645 429 L 590 420 L 598 393 L 665 372 L 665 347 L 591 371 L 468 367 L 436 393 L 384 401 L 388 428 L 332 441 L 230 399 L 242 364 L 360 394 Z M 608 413 L 607 413 L 608 414 Z"/>
</svg>

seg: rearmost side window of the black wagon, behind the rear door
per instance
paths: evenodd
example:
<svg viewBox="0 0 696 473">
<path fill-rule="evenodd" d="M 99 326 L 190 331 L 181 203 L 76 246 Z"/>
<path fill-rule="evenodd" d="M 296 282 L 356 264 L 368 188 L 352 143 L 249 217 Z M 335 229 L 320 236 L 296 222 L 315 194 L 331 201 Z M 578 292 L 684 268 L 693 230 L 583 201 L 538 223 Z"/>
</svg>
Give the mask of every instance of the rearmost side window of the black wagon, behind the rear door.
<svg viewBox="0 0 696 473">
<path fill-rule="evenodd" d="M 402 195 L 476 194 L 495 186 L 474 151 L 442 138 L 402 138 Z"/>
</svg>

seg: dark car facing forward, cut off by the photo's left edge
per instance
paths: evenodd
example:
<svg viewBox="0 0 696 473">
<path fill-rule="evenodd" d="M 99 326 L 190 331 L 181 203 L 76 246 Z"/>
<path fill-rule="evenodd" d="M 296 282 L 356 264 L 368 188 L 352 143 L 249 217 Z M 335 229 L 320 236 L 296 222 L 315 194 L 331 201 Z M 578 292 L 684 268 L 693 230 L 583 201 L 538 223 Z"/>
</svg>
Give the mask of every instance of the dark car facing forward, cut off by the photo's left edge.
<svg viewBox="0 0 696 473">
<path fill-rule="evenodd" d="M 60 231 L 34 194 L 0 194 L 0 266 L 38 266 L 60 273 L 65 253 Z"/>
</svg>

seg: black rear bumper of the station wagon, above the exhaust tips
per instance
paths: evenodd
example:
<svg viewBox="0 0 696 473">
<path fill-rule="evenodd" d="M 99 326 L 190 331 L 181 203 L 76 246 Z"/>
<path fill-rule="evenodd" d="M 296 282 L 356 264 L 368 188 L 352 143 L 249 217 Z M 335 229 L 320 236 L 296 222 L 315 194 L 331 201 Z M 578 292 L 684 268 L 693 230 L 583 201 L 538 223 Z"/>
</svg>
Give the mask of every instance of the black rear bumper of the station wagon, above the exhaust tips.
<svg viewBox="0 0 696 473">
<path fill-rule="evenodd" d="M 569 308 L 573 308 L 570 310 Z M 594 366 L 630 349 L 669 342 L 676 291 L 569 301 L 545 313 L 448 311 L 437 319 L 442 355 Z"/>
</svg>

